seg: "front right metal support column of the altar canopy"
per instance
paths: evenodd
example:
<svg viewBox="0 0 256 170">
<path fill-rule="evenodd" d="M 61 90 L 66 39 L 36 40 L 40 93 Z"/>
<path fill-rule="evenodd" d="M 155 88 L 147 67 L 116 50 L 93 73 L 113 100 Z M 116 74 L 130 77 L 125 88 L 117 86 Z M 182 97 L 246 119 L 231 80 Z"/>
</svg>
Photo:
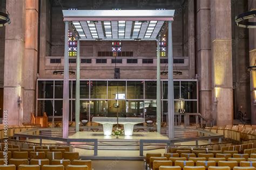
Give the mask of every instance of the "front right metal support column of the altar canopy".
<svg viewBox="0 0 256 170">
<path fill-rule="evenodd" d="M 172 21 L 168 22 L 168 130 L 169 139 L 174 138 L 174 92 L 173 92 L 173 56 Z"/>
</svg>

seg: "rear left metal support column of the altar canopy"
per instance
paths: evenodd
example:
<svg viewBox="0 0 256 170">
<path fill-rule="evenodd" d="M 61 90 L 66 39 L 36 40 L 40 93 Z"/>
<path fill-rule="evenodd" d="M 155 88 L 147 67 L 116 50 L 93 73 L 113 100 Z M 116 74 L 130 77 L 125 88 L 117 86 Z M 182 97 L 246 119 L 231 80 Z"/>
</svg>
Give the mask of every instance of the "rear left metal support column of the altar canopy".
<svg viewBox="0 0 256 170">
<path fill-rule="evenodd" d="M 76 79 L 76 132 L 80 123 L 80 39 L 77 39 L 77 79 Z"/>
</svg>

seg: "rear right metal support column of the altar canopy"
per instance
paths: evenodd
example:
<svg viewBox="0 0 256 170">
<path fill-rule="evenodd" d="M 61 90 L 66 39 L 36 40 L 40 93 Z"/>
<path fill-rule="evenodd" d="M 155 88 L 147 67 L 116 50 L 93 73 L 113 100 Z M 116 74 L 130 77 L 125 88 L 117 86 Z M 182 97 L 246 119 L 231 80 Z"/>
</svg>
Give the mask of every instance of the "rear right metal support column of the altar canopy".
<svg viewBox="0 0 256 170">
<path fill-rule="evenodd" d="M 157 38 L 157 132 L 161 133 L 160 36 Z"/>
</svg>

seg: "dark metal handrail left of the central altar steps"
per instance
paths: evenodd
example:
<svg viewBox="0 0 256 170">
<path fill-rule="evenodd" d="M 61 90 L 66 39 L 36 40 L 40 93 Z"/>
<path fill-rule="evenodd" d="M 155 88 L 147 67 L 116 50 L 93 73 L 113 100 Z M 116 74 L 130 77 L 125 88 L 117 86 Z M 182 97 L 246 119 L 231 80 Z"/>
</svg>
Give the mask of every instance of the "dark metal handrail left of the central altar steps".
<svg viewBox="0 0 256 170">
<path fill-rule="evenodd" d="M 14 137 L 16 137 L 17 140 L 19 140 L 19 137 L 22 138 L 33 138 L 33 139 L 39 139 L 40 145 L 42 145 L 42 140 L 56 140 L 56 141 L 63 141 L 70 145 L 72 142 L 93 142 L 94 143 L 94 155 L 98 155 L 98 139 L 72 139 L 72 138 L 58 138 L 58 137 L 49 137 L 49 136 L 36 136 L 33 134 L 21 134 L 21 133 L 15 133 Z"/>
</svg>

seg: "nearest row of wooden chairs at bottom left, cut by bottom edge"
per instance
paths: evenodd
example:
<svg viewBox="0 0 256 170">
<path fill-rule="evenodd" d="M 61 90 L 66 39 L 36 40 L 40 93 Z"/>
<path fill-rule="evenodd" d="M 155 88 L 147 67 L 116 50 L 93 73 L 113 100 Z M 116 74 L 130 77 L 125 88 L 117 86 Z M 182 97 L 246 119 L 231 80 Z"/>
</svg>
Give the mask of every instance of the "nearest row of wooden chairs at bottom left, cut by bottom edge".
<svg viewBox="0 0 256 170">
<path fill-rule="evenodd" d="M 63 165 L 43 165 L 42 168 L 39 165 L 19 165 L 18 168 L 15 165 L 0 165 L 1 170 L 88 170 L 86 165 L 68 165 L 64 168 Z"/>
</svg>

